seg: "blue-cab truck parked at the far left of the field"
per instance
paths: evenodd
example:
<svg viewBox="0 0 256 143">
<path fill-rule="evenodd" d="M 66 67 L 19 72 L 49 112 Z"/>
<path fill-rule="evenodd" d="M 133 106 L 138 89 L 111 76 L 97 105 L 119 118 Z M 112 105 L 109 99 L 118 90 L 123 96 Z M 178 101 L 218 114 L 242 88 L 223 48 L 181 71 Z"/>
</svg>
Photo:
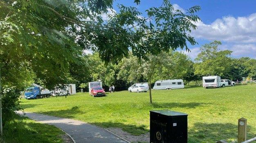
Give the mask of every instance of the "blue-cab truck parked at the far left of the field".
<svg viewBox="0 0 256 143">
<path fill-rule="evenodd" d="M 25 99 L 39 99 L 39 98 L 49 98 L 51 92 L 48 89 L 33 84 L 34 87 L 29 87 L 25 91 Z"/>
</svg>

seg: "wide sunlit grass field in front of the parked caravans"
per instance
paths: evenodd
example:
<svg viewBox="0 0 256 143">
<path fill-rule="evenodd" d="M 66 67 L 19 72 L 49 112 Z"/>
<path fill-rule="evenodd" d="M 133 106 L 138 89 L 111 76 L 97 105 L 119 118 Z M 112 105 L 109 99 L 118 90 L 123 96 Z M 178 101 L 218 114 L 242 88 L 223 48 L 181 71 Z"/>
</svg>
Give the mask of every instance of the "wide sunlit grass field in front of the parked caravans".
<svg viewBox="0 0 256 143">
<path fill-rule="evenodd" d="M 22 100 L 25 111 L 67 117 L 103 128 L 118 127 L 134 135 L 149 131 L 149 111 L 188 113 L 189 143 L 214 143 L 237 138 L 237 122 L 247 118 L 247 137 L 256 137 L 256 85 L 218 89 L 186 87 L 148 93 L 120 91 L 93 98 L 88 93 L 40 100 Z"/>
</svg>

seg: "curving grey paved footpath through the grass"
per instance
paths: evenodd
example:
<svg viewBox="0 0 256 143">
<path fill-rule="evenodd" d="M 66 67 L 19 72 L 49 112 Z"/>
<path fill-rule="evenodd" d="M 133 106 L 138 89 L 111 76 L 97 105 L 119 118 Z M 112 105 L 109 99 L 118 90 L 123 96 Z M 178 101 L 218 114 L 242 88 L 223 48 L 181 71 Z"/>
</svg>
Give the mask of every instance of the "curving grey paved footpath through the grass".
<svg viewBox="0 0 256 143">
<path fill-rule="evenodd" d="M 21 111 L 18 114 L 23 115 Z M 103 128 L 82 121 L 65 119 L 37 113 L 26 113 L 25 116 L 41 123 L 61 128 L 76 141 L 76 143 L 127 143 Z"/>
</svg>

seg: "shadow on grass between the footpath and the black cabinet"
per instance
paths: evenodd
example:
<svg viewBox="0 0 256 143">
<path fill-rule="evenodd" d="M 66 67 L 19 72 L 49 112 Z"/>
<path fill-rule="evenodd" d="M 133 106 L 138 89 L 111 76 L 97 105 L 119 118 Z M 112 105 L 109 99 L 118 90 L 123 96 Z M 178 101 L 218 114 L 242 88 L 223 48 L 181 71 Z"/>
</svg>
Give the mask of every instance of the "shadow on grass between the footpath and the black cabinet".
<svg viewBox="0 0 256 143">
<path fill-rule="evenodd" d="M 135 126 L 130 124 L 123 124 L 119 122 L 91 122 L 90 124 L 94 124 L 96 126 L 100 126 L 102 128 L 121 128 L 125 132 L 129 132 L 132 135 L 140 135 L 149 132 L 145 125 Z"/>
</svg>

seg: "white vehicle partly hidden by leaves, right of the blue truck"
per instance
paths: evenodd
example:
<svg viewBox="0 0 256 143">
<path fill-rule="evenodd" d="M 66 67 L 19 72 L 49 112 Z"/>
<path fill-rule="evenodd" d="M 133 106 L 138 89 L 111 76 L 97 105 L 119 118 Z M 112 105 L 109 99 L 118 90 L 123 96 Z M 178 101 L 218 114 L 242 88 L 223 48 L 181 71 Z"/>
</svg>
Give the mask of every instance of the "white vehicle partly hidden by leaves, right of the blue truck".
<svg viewBox="0 0 256 143">
<path fill-rule="evenodd" d="M 52 95 L 53 96 L 64 96 L 64 95 L 72 95 L 76 94 L 76 84 L 68 84 L 65 86 L 64 89 L 61 89 L 61 87 L 55 87 Z"/>
</svg>

